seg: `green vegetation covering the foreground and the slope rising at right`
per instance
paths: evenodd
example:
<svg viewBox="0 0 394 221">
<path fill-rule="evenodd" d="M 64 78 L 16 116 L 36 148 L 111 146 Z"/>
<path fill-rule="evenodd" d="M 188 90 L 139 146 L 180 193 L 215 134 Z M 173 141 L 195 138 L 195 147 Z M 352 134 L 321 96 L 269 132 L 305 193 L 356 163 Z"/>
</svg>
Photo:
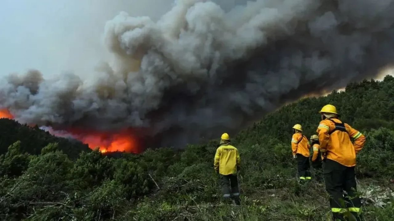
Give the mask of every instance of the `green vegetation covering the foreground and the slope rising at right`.
<svg viewBox="0 0 394 221">
<path fill-rule="evenodd" d="M 302 99 L 239 133 L 232 143 L 242 159 L 242 206 L 221 201 L 213 170 L 217 140 L 184 151 L 162 148 L 122 158 L 84 151 L 72 160 L 59 144 L 46 140 L 41 149 L 29 140 L 36 138 L 24 136 L 0 157 L 0 219 L 327 220 L 330 209 L 324 184 L 316 179 L 319 172 L 313 171 L 314 180 L 308 184 L 298 184 L 290 148 L 292 125 L 301 123 L 307 136 L 314 134 L 320 121 L 317 112 L 327 103 L 336 105 L 341 118 L 367 136 L 357 166 L 366 220 L 392 220 L 391 76 L 351 84 L 346 92 Z M 0 121 L 3 128 L 5 123 Z M 29 151 L 30 145 L 40 154 L 29 154 L 36 153 Z"/>
</svg>

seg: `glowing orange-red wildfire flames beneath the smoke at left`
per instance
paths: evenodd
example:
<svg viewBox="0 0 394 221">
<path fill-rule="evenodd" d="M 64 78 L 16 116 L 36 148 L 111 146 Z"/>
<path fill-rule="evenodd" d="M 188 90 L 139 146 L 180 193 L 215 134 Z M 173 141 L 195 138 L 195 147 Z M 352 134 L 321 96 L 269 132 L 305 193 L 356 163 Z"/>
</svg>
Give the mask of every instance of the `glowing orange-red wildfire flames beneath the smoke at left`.
<svg viewBox="0 0 394 221">
<path fill-rule="evenodd" d="M 13 119 L 14 116 L 7 109 L 0 109 L 0 118 Z M 67 132 L 61 132 L 48 129 L 48 132 L 54 136 L 72 137 L 76 140 L 87 144 L 89 148 L 99 148 L 101 153 L 106 152 L 128 152 L 140 153 L 138 140 L 132 136 L 131 129 L 124 129 L 116 132 L 102 132 L 102 131 L 86 131 L 82 129 L 67 129 Z"/>
</svg>

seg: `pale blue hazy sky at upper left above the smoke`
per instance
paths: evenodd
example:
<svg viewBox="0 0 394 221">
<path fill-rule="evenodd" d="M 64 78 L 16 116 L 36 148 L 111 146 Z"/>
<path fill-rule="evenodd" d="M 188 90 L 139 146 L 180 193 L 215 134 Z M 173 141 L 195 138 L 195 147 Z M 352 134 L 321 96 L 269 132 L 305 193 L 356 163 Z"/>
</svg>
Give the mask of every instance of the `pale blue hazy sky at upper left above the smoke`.
<svg viewBox="0 0 394 221">
<path fill-rule="evenodd" d="M 143 2 L 141 4 L 141 2 Z M 158 19 L 173 0 L 0 0 L 0 76 L 28 68 L 84 76 L 105 52 L 101 35 L 120 11 Z M 155 7 L 152 7 L 155 6 Z"/>
</svg>

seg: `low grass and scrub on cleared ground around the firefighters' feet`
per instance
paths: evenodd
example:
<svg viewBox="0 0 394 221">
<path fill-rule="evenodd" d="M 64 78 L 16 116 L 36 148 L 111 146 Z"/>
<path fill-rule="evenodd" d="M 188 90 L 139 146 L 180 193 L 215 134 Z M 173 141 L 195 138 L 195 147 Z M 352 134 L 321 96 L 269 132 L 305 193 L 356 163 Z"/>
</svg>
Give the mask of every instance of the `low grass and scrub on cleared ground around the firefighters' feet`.
<svg viewBox="0 0 394 221">
<path fill-rule="evenodd" d="M 328 195 L 323 181 L 311 180 L 298 184 L 296 178 L 282 180 L 284 187 L 273 189 L 243 188 L 240 177 L 242 206 L 229 201 L 196 203 L 193 199 L 176 203 L 155 203 L 154 198 L 140 203 L 130 211 L 127 220 L 245 220 L 245 221 L 326 221 L 331 220 Z M 387 180 L 358 180 L 364 203 L 364 219 L 389 221 L 394 217 L 393 206 L 387 206 L 393 185 Z M 377 186 L 385 184 L 385 186 Z M 390 189 L 391 188 L 391 189 Z M 387 192 L 387 190 L 389 190 Z M 218 192 L 220 194 L 220 192 Z M 379 198 L 380 197 L 380 198 Z M 160 197 L 159 197 L 160 198 Z M 158 199 L 159 199 L 158 198 Z M 160 202 L 160 200 L 156 201 Z M 165 201 L 164 201 L 165 202 Z M 165 217 L 165 219 L 164 219 Z"/>
</svg>

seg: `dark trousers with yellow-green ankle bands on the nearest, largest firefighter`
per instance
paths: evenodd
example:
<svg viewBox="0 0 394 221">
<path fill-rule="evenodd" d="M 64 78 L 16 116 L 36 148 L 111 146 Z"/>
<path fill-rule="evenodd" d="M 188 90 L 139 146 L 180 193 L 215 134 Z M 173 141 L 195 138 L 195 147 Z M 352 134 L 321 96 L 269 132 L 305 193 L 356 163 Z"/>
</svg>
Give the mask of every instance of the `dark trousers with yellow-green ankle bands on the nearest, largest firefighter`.
<svg viewBox="0 0 394 221">
<path fill-rule="evenodd" d="M 349 212 L 357 221 L 361 220 L 361 200 L 355 193 L 357 184 L 354 168 L 354 166 L 347 167 L 334 160 L 325 159 L 325 189 L 330 195 L 330 206 L 334 220 L 345 220 L 344 216 L 348 216 Z"/>
</svg>

